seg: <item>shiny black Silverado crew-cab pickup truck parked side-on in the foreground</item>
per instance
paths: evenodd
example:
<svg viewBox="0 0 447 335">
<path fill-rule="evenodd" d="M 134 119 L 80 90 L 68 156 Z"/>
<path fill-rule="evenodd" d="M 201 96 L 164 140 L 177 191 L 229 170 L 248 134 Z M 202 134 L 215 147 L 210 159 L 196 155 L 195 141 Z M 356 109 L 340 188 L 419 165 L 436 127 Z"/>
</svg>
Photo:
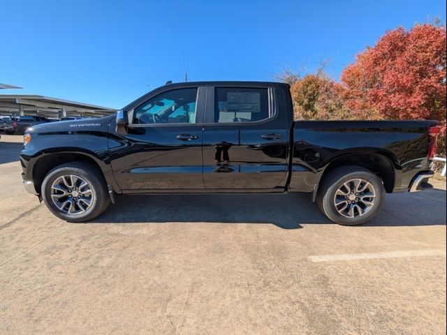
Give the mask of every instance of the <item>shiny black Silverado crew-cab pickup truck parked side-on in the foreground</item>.
<svg viewBox="0 0 447 335">
<path fill-rule="evenodd" d="M 116 193 L 305 192 L 357 225 L 385 193 L 431 187 L 438 133 L 436 121 L 293 121 L 287 84 L 188 82 L 101 119 L 33 126 L 20 159 L 27 191 L 66 221 Z"/>
</svg>

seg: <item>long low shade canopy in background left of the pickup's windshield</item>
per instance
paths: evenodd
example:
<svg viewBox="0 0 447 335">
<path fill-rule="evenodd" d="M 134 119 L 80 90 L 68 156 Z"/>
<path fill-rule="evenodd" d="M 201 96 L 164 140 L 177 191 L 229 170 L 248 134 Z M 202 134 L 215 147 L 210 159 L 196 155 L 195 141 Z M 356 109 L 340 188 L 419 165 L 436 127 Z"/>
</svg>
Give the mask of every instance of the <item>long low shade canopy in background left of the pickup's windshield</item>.
<svg viewBox="0 0 447 335">
<path fill-rule="evenodd" d="M 47 96 L 29 94 L 0 94 L 0 115 L 41 115 L 52 119 L 61 117 L 103 117 L 115 112 L 109 107 L 77 103 Z"/>
</svg>

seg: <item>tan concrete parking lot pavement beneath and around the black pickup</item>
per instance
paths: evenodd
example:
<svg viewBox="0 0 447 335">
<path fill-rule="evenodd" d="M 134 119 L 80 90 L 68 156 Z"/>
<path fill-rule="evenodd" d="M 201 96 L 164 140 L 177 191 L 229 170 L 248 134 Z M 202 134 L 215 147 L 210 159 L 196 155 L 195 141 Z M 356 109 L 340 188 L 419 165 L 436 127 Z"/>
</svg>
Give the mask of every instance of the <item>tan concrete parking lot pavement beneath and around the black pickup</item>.
<svg viewBox="0 0 447 335">
<path fill-rule="evenodd" d="M 127 196 L 66 223 L 1 136 L 0 334 L 446 333 L 445 183 L 359 227 L 299 194 Z"/>
</svg>

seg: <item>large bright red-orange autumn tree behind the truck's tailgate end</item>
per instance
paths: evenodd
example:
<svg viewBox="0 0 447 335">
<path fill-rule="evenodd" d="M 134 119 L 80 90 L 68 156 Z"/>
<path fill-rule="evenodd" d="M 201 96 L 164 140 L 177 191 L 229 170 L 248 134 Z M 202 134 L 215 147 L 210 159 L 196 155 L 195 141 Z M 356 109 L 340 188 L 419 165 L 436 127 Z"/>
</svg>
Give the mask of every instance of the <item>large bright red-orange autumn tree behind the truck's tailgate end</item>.
<svg viewBox="0 0 447 335">
<path fill-rule="evenodd" d="M 446 131 L 446 28 L 417 24 L 388 31 L 342 72 L 344 101 L 354 114 L 383 119 L 436 119 Z"/>
</svg>

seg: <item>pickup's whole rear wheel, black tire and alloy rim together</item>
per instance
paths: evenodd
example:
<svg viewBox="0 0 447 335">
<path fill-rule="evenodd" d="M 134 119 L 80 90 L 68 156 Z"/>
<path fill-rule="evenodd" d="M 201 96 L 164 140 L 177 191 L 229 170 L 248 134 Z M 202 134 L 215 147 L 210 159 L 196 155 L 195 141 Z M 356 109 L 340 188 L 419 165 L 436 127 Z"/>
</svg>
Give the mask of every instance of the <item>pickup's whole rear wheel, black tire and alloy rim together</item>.
<svg viewBox="0 0 447 335">
<path fill-rule="evenodd" d="M 381 179 L 359 166 L 342 166 L 324 177 L 316 202 L 330 220 L 360 225 L 379 212 L 385 195 Z"/>
</svg>

